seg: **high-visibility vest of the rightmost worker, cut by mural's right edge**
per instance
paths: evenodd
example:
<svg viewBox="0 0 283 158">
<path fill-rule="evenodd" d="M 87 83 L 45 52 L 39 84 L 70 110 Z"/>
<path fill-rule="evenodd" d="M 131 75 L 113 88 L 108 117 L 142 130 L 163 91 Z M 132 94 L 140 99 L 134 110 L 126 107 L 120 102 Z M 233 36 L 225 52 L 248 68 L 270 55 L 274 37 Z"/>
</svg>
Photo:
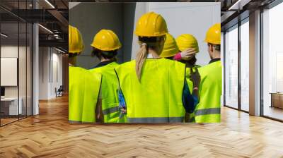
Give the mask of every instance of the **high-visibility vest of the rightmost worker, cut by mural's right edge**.
<svg viewBox="0 0 283 158">
<path fill-rule="evenodd" d="M 195 108 L 196 123 L 219 123 L 221 121 L 222 66 L 221 61 L 199 68 L 200 102 Z"/>
</svg>

